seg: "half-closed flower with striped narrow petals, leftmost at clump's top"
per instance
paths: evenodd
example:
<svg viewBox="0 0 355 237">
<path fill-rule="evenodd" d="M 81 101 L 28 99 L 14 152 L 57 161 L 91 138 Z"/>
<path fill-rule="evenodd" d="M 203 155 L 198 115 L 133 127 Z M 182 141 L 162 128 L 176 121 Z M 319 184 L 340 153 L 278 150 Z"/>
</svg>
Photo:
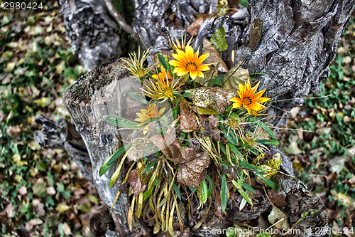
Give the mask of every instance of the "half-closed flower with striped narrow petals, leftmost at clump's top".
<svg viewBox="0 0 355 237">
<path fill-rule="evenodd" d="M 127 70 L 129 70 L 133 77 L 143 78 L 143 76 L 146 75 L 148 71 L 151 70 L 151 68 L 153 67 L 153 65 L 148 68 L 143 67 L 143 63 L 148 58 L 148 51 L 143 51 L 142 57 L 140 48 L 138 48 L 138 57 L 136 55 L 136 52 L 129 53 L 129 58 L 131 59 L 131 61 L 122 59 L 122 61 L 124 61 L 124 63 L 126 63 L 127 65 L 122 65 L 121 68 L 126 68 Z"/>
</svg>

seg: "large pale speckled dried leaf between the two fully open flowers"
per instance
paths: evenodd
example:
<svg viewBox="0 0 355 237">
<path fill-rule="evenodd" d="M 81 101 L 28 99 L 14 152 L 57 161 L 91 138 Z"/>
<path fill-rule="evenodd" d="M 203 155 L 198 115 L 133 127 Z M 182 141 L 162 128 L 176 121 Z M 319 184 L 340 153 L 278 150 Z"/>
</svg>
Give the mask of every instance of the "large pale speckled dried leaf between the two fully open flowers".
<svg viewBox="0 0 355 237">
<path fill-rule="evenodd" d="M 190 93 L 189 98 L 192 100 L 194 105 L 204 108 L 212 108 L 216 110 L 219 114 L 226 110 L 228 105 L 231 105 L 229 100 L 235 98 L 237 93 L 234 90 L 227 90 L 223 88 L 195 88 L 186 90 L 185 92 Z"/>
</svg>

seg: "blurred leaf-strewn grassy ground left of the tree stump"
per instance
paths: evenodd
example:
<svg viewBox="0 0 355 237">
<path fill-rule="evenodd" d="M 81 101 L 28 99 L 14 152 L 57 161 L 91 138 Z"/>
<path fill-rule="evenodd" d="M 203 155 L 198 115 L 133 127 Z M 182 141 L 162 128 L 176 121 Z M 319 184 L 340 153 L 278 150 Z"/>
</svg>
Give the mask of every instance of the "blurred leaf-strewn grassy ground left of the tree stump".
<svg viewBox="0 0 355 237">
<path fill-rule="evenodd" d="M 61 150 L 33 141 L 33 117 L 69 118 L 61 95 L 85 70 L 65 40 L 54 1 L 0 14 L 0 228 L 5 236 L 89 236 L 96 191 Z"/>
</svg>

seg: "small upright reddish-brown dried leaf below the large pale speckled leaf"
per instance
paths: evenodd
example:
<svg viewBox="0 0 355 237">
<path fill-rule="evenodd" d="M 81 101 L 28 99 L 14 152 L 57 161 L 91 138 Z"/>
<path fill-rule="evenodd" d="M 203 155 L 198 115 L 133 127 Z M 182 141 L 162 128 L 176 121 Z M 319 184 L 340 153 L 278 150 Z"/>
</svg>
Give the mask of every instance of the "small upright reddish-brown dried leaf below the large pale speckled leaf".
<svg viewBox="0 0 355 237">
<path fill-rule="evenodd" d="M 195 119 L 195 113 L 191 111 L 190 105 L 184 98 L 180 101 L 180 130 L 183 132 L 197 130 L 198 125 Z"/>
</svg>

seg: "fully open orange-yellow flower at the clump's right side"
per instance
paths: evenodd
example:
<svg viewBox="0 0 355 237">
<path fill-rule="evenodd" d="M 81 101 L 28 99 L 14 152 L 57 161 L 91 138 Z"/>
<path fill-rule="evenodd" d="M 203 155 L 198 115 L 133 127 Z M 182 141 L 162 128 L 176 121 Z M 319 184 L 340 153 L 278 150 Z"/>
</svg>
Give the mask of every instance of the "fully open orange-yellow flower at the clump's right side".
<svg viewBox="0 0 355 237">
<path fill-rule="evenodd" d="M 248 110 L 249 114 L 251 113 L 252 110 L 254 110 L 253 113 L 255 114 L 255 112 L 265 109 L 266 107 L 264 105 L 261 105 L 261 103 L 270 100 L 270 98 L 261 97 L 261 95 L 263 95 L 266 89 L 263 89 L 258 93 L 255 93 L 256 89 L 258 89 L 259 84 L 260 82 L 258 82 L 256 86 L 251 88 L 249 79 L 244 83 L 244 86 L 241 85 L 241 83 L 239 83 L 239 91 L 238 91 L 239 98 L 232 98 L 231 100 L 229 100 L 231 102 L 234 102 L 233 108 L 245 107 L 246 110 Z"/>
</svg>

